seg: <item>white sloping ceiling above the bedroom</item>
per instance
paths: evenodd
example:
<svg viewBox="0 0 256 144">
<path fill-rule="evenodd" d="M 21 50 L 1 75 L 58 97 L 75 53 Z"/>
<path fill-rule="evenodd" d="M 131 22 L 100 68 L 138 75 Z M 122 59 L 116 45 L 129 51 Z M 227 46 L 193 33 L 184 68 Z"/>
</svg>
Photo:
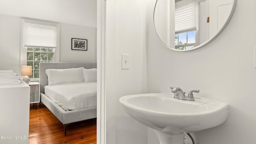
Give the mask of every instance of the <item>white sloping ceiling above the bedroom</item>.
<svg viewBox="0 0 256 144">
<path fill-rule="evenodd" d="M 97 0 L 0 0 L 0 14 L 96 28 Z"/>
</svg>

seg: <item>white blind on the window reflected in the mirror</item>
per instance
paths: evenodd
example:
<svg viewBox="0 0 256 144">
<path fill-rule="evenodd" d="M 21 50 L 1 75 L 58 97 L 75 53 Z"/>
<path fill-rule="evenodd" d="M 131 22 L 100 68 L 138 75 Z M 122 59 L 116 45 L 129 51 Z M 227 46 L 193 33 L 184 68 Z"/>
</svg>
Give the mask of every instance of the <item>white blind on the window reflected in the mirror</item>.
<svg viewBox="0 0 256 144">
<path fill-rule="evenodd" d="M 175 4 L 175 32 L 196 30 L 196 2 L 183 0 Z"/>
</svg>

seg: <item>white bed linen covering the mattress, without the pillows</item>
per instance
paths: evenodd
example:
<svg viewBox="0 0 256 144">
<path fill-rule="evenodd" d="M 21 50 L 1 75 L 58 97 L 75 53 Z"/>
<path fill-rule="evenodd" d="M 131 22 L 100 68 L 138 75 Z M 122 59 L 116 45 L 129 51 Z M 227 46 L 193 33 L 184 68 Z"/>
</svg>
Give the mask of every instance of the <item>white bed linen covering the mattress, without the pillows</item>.
<svg viewBox="0 0 256 144">
<path fill-rule="evenodd" d="M 97 106 L 97 82 L 48 85 L 44 93 L 64 110 Z"/>
</svg>

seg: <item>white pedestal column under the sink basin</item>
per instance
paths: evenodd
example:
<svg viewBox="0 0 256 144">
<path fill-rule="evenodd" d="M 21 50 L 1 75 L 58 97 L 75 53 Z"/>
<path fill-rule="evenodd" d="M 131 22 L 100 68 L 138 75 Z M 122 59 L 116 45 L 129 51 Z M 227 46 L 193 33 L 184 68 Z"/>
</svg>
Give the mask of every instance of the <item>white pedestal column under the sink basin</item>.
<svg viewBox="0 0 256 144">
<path fill-rule="evenodd" d="M 168 134 L 163 134 L 161 132 L 156 132 L 156 135 L 159 139 L 160 144 L 184 144 L 184 137 L 185 134 L 181 135 L 168 135 Z"/>
</svg>

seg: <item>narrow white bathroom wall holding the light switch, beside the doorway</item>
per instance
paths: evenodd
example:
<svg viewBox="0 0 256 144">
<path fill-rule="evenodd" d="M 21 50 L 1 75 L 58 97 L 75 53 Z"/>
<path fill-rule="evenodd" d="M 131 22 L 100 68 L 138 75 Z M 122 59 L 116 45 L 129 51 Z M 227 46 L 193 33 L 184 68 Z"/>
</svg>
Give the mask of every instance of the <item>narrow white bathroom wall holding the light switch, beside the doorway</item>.
<svg viewBox="0 0 256 144">
<path fill-rule="evenodd" d="M 106 1 L 106 143 L 147 144 L 147 128 L 128 116 L 119 98 L 146 92 L 145 3 Z M 121 55 L 130 69 L 121 70 Z"/>
</svg>

